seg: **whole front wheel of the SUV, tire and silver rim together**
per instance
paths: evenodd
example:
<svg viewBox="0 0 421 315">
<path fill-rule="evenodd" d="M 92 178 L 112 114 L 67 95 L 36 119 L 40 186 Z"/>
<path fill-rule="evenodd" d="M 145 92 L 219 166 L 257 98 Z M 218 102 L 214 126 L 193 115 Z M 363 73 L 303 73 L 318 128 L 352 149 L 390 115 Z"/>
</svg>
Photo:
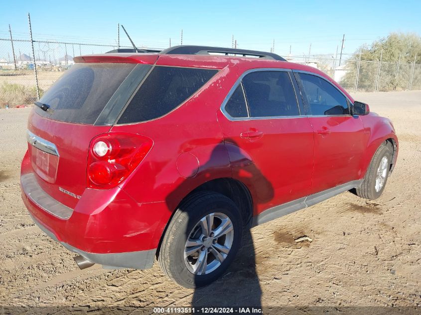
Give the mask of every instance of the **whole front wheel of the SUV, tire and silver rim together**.
<svg viewBox="0 0 421 315">
<path fill-rule="evenodd" d="M 385 189 L 391 163 L 392 151 L 386 143 L 382 143 L 374 154 L 362 185 L 356 189 L 357 195 L 370 200 L 379 198 Z"/>
</svg>

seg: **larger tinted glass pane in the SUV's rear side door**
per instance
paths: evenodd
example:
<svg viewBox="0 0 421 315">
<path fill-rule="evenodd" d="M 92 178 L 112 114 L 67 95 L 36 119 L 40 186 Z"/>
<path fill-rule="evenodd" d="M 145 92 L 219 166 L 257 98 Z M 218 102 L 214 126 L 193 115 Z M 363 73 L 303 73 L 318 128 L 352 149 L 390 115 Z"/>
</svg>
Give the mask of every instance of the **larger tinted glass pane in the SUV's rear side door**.
<svg viewBox="0 0 421 315">
<path fill-rule="evenodd" d="M 288 72 L 252 72 L 244 77 L 243 86 L 251 117 L 299 115 Z"/>
</svg>

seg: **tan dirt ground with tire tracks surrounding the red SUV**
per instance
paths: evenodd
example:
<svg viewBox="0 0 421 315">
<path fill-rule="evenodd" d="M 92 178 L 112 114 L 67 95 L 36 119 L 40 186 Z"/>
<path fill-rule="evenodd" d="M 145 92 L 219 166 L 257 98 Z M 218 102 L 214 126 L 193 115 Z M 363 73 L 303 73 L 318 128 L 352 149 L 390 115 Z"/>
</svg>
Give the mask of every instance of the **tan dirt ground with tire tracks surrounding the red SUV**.
<svg viewBox="0 0 421 315">
<path fill-rule="evenodd" d="M 383 196 L 344 193 L 253 228 L 253 242 L 245 241 L 225 276 L 198 290 L 169 281 L 157 263 L 144 271 L 79 270 L 75 254 L 35 226 L 20 199 L 30 109 L 0 109 L 0 306 L 52 307 L 44 313 L 66 306 L 421 307 L 421 91 L 354 97 L 392 118 L 398 133 L 398 163 Z M 313 241 L 295 243 L 302 235 Z"/>
</svg>

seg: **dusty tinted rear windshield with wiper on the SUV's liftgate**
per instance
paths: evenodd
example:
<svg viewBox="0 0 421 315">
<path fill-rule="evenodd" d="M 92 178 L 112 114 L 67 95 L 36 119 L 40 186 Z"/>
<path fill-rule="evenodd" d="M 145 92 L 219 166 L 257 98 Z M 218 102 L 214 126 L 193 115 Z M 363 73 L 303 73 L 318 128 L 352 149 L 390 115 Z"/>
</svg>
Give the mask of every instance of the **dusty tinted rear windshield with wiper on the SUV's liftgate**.
<svg viewBox="0 0 421 315">
<path fill-rule="evenodd" d="M 36 107 L 42 116 L 65 122 L 93 124 L 136 64 L 79 63 L 73 65 L 42 96 Z"/>
</svg>

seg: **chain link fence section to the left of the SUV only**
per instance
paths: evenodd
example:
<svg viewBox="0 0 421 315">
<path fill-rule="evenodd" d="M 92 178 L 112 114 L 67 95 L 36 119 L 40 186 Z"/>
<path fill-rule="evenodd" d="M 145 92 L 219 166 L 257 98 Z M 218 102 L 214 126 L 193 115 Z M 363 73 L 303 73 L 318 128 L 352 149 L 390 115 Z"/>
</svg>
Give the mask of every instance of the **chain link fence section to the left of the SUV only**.
<svg viewBox="0 0 421 315">
<path fill-rule="evenodd" d="M 33 41 L 34 63 L 31 44 L 30 40 L 0 38 L 0 107 L 31 104 L 36 100 L 34 65 L 42 95 L 74 64 L 74 56 L 105 53 L 117 48 L 113 45 Z"/>
</svg>

